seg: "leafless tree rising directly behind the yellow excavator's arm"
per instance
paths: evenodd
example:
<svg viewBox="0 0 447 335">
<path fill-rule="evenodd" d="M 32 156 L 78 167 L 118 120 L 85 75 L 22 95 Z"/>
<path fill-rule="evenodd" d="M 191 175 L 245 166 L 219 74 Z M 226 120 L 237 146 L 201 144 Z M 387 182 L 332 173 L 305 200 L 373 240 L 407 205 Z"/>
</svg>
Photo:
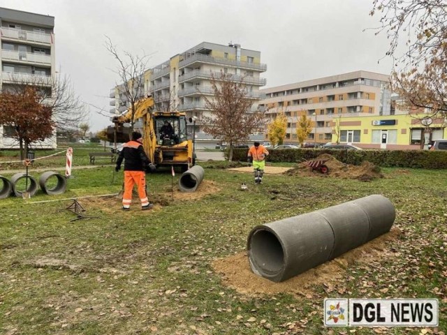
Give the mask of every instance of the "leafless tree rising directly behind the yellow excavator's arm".
<svg viewBox="0 0 447 335">
<path fill-rule="evenodd" d="M 143 54 L 142 56 L 138 56 L 124 51 L 124 56 L 122 56 L 119 54 L 117 47 L 112 44 L 112 40 L 108 36 L 105 36 L 105 38 L 105 47 L 118 63 L 116 70 L 119 76 L 117 89 L 126 98 L 126 103 L 129 103 L 129 110 L 131 111 L 131 131 L 133 131 L 133 125 L 135 124 L 135 120 L 133 119 L 135 105 L 144 95 L 145 70 L 149 55 Z"/>
</svg>

